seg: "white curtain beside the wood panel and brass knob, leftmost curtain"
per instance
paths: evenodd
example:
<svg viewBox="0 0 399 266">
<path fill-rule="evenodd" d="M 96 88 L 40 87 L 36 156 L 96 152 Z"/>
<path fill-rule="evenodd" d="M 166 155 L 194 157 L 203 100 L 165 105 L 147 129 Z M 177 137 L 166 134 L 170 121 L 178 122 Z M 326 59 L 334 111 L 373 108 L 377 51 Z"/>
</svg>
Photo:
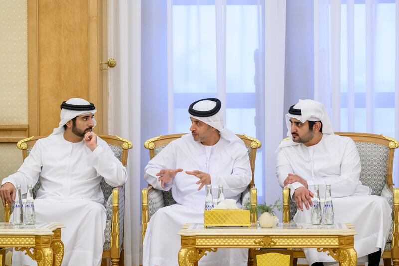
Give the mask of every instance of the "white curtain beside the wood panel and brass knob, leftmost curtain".
<svg viewBox="0 0 399 266">
<path fill-rule="evenodd" d="M 132 141 L 125 185 L 125 265 L 140 263 L 140 113 L 141 2 L 109 1 L 108 57 L 117 66 L 108 70 L 108 134 Z"/>
</svg>

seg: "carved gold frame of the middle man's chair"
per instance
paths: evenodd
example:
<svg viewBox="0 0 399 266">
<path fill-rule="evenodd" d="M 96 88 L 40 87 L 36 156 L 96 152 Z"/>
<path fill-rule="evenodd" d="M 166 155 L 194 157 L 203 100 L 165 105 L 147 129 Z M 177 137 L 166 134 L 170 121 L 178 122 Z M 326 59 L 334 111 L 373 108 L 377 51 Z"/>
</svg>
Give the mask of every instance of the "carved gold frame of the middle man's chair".
<svg viewBox="0 0 399 266">
<path fill-rule="evenodd" d="M 156 147 L 167 145 L 167 144 L 169 144 L 169 142 L 171 142 L 175 139 L 178 139 L 185 134 L 187 134 L 187 133 L 165 135 L 165 136 L 160 135 L 158 137 L 151 138 L 151 139 L 147 140 L 146 142 L 144 142 L 144 147 L 146 149 L 148 149 L 150 152 L 150 160 L 152 158 L 154 158 L 154 156 L 156 155 L 155 154 Z M 251 149 L 251 155 L 249 158 L 249 162 L 250 162 L 251 170 L 252 170 L 252 181 L 249 184 L 250 193 L 251 193 L 251 208 L 252 208 L 251 222 L 257 222 L 257 214 L 256 214 L 257 190 L 255 188 L 255 183 L 254 183 L 254 173 L 255 173 L 256 151 L 257 151 L 257 149 L 259 149 L 262 146 L 262 144 L 258 139 L 252 138 L 245 134 L 242 134 L 242 135 L 237 134 L 237 136 L 244 142 L 247 149 Z M 144 240 L 144 236 L 145 236 L 145 233 L 147 230 L 147 224 L 149 222 L 148 193 L 151 193 L 152 190 L 154 190 L 154 188 L 151 185 L 149 185 L 147 188 L 144 188 L 141 191 L 141 195 L 142 195 L 142 207 L 141 207 L 141 210 L 142 210 L 142 215 L 141 215 L 142 241 Z M 244 204 L 244 203 L 242 203 L 242 204 Z M 187 222 L 190 222 L 190 221 L 187 221 Z M 253 254 L 252 253 L 253 253 L 253 250 L 250 249 L 249 260 L 251 260 L 253 262 Z"/>
</svg>

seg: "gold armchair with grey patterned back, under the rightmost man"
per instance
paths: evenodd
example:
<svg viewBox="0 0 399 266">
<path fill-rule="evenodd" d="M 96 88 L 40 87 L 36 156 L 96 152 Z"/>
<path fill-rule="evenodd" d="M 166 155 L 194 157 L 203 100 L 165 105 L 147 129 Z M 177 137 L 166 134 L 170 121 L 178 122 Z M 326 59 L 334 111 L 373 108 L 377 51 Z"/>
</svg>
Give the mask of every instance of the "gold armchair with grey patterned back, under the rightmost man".
<svg viewBox="0 0 399 266">
<path fill-rule="evenodd" d="M 347 136 L 356 143 L 362 170 L 360 180 L 362 184 L 372 189 L 373 195 L 383 196 L 392 207 L 393 222 L 387 243 L 382 253 L 384 265 L 399 266 L 399 188 L 395 188 L 392 182 L 392 166 L 394 159 L 394 150 L 398 148 L 399 143 L 395 139 L 369 133 L 335 133 L 341 136 Z M 384 186 L 388 186 L 390 196 L 381 195 Z M 290 200 L 289 188 L 283 189 L 283 221 L 290 222 L 291 217 L 296 212 L 295 204 Z M 305 258 L 302 250 L 294 250 L 294 264 L 297 258 Z"/>
</svg>

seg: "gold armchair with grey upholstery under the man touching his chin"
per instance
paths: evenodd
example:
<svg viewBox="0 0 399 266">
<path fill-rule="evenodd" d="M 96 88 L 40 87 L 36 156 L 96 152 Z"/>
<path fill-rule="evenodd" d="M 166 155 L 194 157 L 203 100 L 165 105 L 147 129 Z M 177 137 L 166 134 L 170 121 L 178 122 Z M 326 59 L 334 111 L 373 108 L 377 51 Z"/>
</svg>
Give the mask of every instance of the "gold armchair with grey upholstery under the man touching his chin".
<svg viewBox="0 0 399 266">
<path fill-rule="evenodd" d="M 33 145 L 38 139 L 43 138 L 30 137 L 23 139 L 17 143 L 19 149 L 22 150 L 23 159 L 25 159 L 31 151 Z M 128 151 L 132 148 L 132 143 L 129 140 L 118 136 L 99 135 L 101 139 L 106 141 L 114 152 L 116 158 L 126 166 Z M 36 197 L 36 192 L 41 186 L 41 177 L 33 187 L 33 196 Z M 101 180 L 101 189 L 104 194 L 105 207 L 107 212 L 106 228 L 104 231 L 105 243 L 103 246 L 103 259 L 109 258 L 111 265 L 124 265 L 123 262 L 123 230 L 124 230 L 124 199 L 125 186 L 112 187 L 108 185 L 104 178 Z M 5 206 L 5 221 L 8 222 L 13 206 Z"/>
</svg>

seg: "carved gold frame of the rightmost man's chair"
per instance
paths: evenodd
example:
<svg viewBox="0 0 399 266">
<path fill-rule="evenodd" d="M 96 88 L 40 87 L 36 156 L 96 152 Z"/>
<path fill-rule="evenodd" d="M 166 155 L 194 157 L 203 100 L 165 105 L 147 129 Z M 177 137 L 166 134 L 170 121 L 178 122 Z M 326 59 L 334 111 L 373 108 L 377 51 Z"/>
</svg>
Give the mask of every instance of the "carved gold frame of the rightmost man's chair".
<svg viewBox="0 0 399 266">
<path fill-rule="evenodd" d="M 392 232 L 392 248 L 391 250 L 384 250 L 382 258 L 384 259 L 384 266 L 391 265 L 391 259 L 393 265 L 399 266 L 399 188 L 394 187 L 392 181 L 392 167 L 394 160 L 394 150 L 398 148 L 399 143 L 397 140 L 386 137 L 383 135 L 369 134 L 369 133 L 350 133 L 350 132 L 336 132 L 335 134 L 340 136 L 346 136 L 353 139 L 356 142 L 368 142 L 379 144 L 388 147 L 388 162 L 387 162 L 387 185 L 393 194 L 393 223 L 394 228 Z M 288 138 L 286 138 L 288 139 Z M 284 139 L 284 140 L 286 140 Z M 283 140 L 283 141 L 284 141 Z M 285 223 L 290 222 L 290 189 L 283 189 L 283 221 Z M 305 254 L 302 250 L 294 250 L 294 265 L 298 258 L 305 258 Z"/>
</svg>

